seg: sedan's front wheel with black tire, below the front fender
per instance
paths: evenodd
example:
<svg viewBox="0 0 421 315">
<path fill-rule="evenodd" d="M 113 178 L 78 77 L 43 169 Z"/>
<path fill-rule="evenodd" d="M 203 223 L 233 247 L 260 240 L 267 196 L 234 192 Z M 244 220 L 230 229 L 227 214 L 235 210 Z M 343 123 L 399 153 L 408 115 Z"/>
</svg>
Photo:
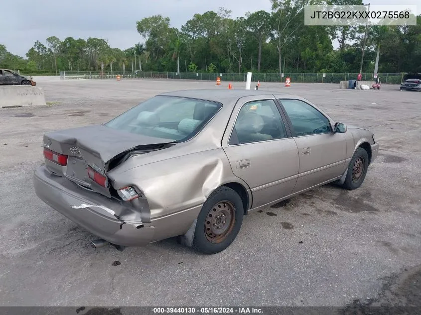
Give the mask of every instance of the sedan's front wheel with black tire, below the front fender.
<svg viewBox="0 0 421 315">
<path fill-rule="evenodd" d="M 362 165 L 361 165 L 362 163 Z M 342 187 L 348 190 L 357 189 L 364 182 L 368 169 L 368 153 L 363 148 L 358 148 L 348 166 L 345 182 Z"/>
</svg>

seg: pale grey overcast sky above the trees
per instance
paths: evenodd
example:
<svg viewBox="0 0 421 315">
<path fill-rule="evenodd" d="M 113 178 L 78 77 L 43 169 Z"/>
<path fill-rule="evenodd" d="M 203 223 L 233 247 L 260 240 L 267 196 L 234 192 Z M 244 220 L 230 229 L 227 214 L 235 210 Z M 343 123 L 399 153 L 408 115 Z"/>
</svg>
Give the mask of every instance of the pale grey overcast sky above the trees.
<svg viewBox="0 0 421 315">
<path fill-rule="evenodd" d="M 416 4 L 421 0 L 367 0 L 371 4 Z M 98 37 L 108 39 L 111 47 L 126 49 L 142 41 L 136 21 L 161 14 L 180 27 L 195 13 L 232 10 L 232 16 L 247 11 L 271 10 L 270 0 L 1 0 L 0 44 L 13 54 L 25 56 L 36 40 L 45 43 L 49 36 Z M 336 46 L 336 45 L 335 45 Z"/>
</svg>

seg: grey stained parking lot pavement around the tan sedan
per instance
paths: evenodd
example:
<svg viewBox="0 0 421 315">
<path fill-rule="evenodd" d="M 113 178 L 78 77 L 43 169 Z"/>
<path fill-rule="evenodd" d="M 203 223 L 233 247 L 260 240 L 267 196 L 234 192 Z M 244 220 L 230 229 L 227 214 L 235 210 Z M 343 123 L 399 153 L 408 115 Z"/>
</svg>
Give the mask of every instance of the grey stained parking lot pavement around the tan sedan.
<svg viewBox="0 0 421 315">
<path fill-rule="evenodd" d="M 228 83 L 35 80 L 47 106 L 0 109 L 0 305 L 420 306 L 421 93 L 261 83 L 372 130 L 379 156 L 359 189 L 327 185 L 251 213 L 228 249 L 207 256 L 174 239 L 95 250 L 94 235 L 36 197 L 32 175 L 44 132 L 108 121 L 161 92 Z"/>
</svg>

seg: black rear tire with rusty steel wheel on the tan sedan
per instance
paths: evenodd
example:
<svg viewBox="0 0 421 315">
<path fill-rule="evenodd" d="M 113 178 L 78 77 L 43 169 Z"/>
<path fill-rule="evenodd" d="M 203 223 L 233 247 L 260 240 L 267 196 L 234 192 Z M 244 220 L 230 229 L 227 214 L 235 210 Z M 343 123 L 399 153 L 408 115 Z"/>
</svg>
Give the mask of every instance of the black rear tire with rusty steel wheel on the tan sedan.
<svg viewBox="0 0 421 315">
<path fill-rule="evenodd" d="M 232 212 L 230 220 L 228 212 Z M 204 254 L 223 251 L 237 237 L 243 223 L 243 215 L 244 207 L 240 196 L 231 188 L 219 187 L 203 204 L 197 217 L 192 247 Z M 215 227 L 214 224 L 219 225 Z M 219 232 L 217 228 L 224 233 L 212 234 L 214 231 Z"/>
</svg>

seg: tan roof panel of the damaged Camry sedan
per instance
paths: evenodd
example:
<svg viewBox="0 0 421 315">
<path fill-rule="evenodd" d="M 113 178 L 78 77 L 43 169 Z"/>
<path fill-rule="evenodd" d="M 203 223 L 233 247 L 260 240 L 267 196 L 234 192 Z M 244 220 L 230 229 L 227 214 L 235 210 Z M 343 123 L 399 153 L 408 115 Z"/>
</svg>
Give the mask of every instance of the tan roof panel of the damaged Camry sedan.
<svg viewBox="0 0 421 315">
<path fill-rule="evenodd" d="M 181 91 L 172 91 L 166 92 L 159 95 L 165 96 L 177 96 L 177 97 L 185 97 L 185 98 L 193 98 L 193 99 L 200 99 L 200 100 L 207 100 L 207 101 L 214 101 L 219 102 L 222 104 L 237 101 L 239 98 L 242 97 L 249 97 L 249 96 L 259 96 L 259 95 L 282 95 L 293 99 L 302 99 L 301 97 L 284 94 L 276 91 L 265 91 L 265 90 L 228 90 L 228 89 L 197 89 L 197 90 L 181 90 Z"/>
</svg>

